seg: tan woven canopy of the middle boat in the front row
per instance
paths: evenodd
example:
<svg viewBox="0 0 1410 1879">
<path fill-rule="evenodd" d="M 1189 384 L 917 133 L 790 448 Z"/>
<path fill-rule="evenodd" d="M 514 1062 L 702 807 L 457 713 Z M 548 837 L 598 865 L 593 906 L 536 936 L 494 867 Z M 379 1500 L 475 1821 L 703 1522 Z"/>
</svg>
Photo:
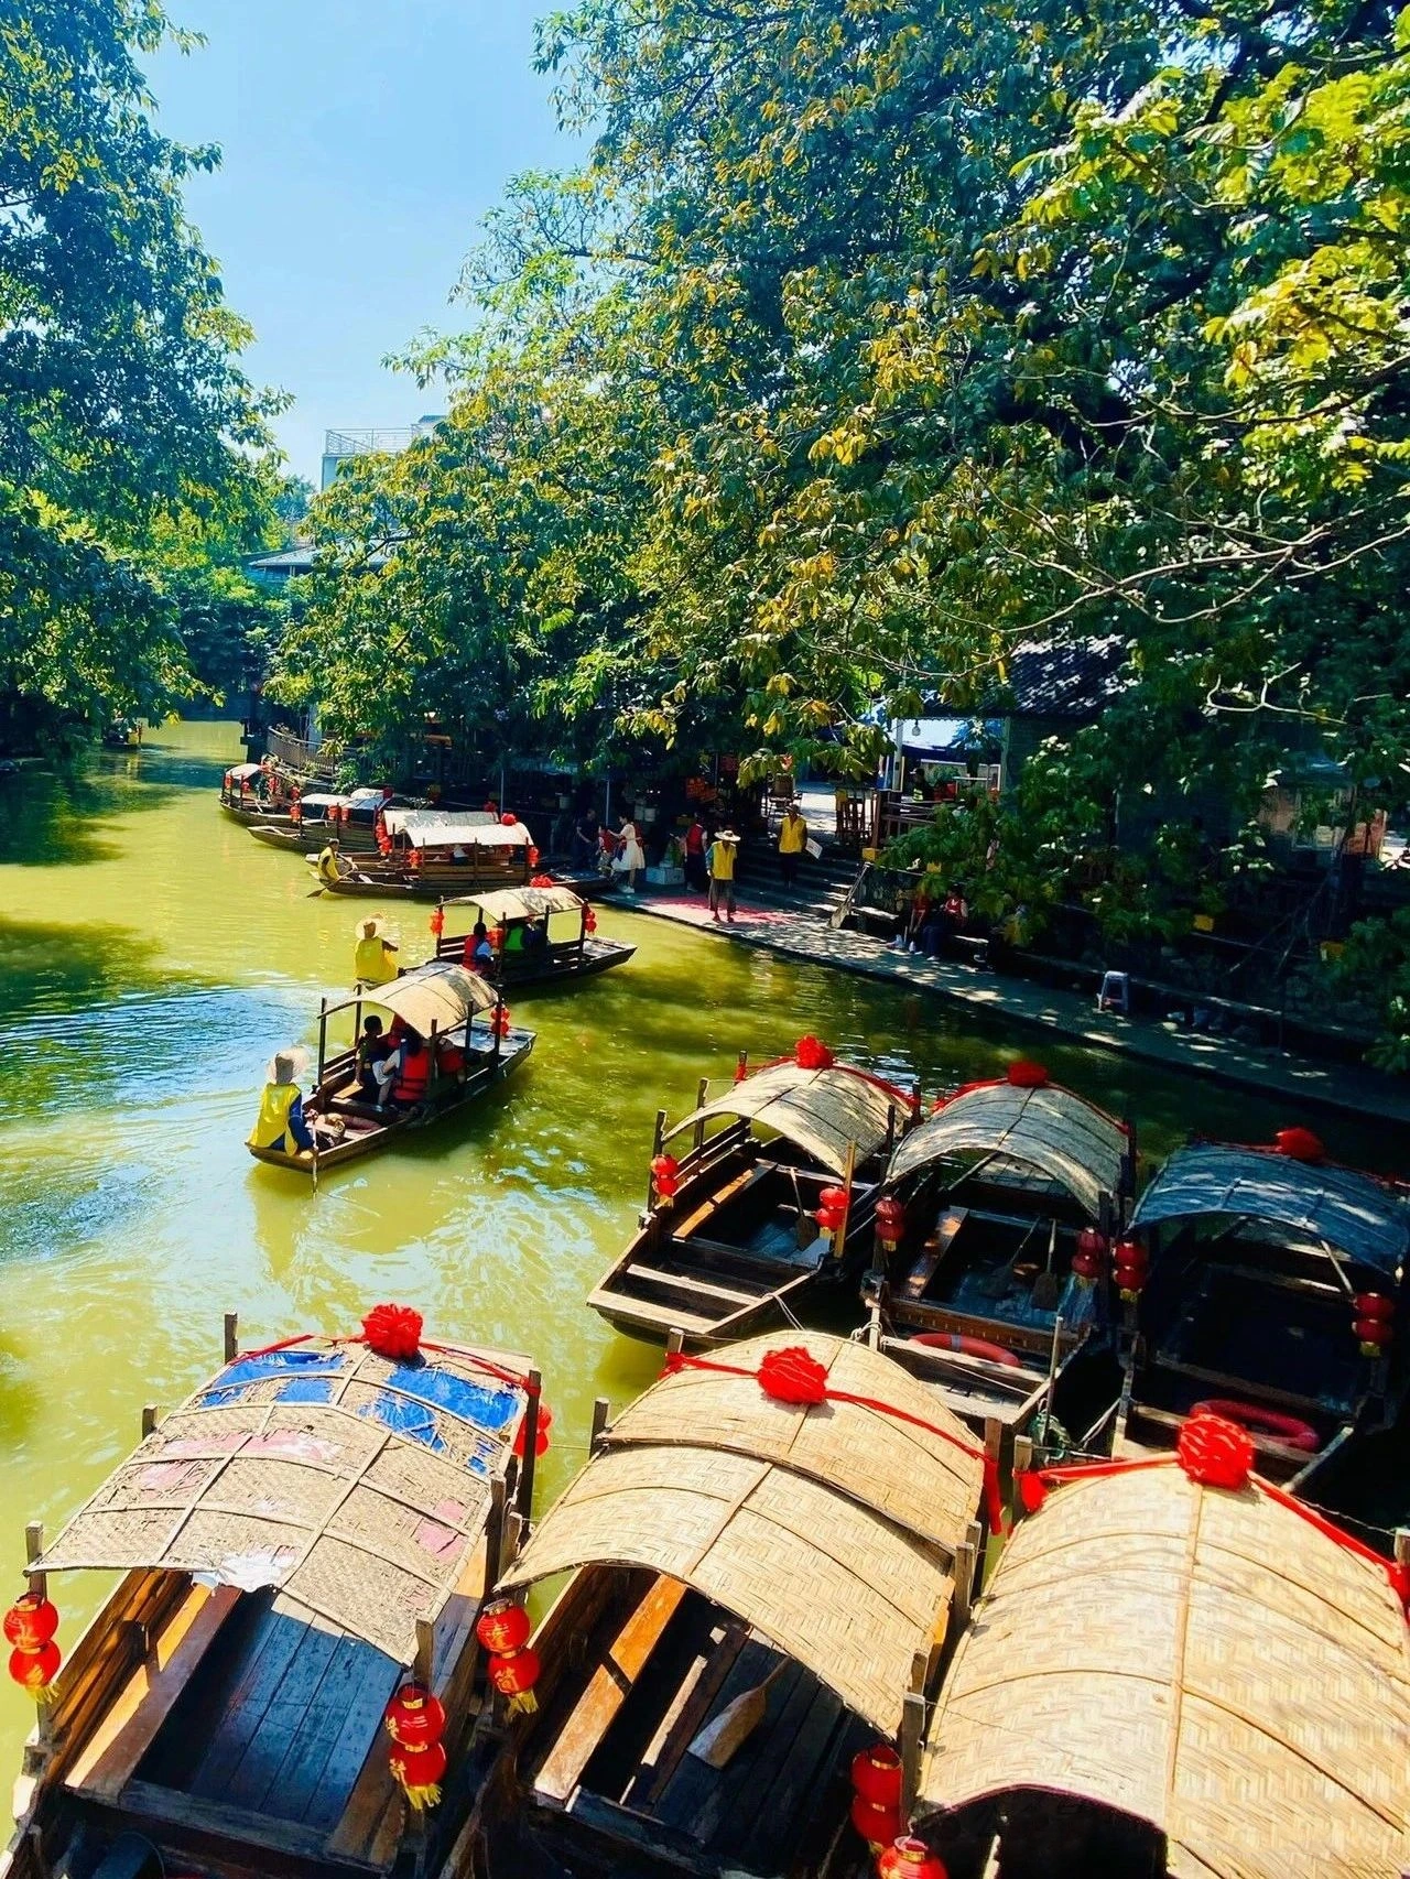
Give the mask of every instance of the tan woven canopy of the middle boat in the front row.
<svg viewBox="0 0 1410 1879">
<path fill-rule="evenodd" d="M 953 1439 L 859 1404 L 765 1396 L 752 1372 L 784 1342 L 807 1345 L 829 1389 L 902 1409 Z M 752 1338 L 714 1360 L 750 1375 L 686 1368 L 654 1383 L 540 1522 L 504 1584 L 585 1565 L 666 1573 L 895 1734 L 912 1661 L 944 1635 L 955 1548 L 979 1501 L 972 1437 L 899 1364 L 842 1338 Z"/>
</svg>

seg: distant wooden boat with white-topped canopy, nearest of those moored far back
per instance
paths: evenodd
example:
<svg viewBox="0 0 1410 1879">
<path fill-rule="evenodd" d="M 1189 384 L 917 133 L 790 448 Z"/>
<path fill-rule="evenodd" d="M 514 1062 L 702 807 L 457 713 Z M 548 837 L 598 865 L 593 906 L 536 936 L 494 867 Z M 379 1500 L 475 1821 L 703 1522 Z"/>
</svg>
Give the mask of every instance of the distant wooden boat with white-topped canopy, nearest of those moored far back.
<svg viewBox="0 0 1410 1879">
<path fill-rule="evenodd" d="M 320 885 L 329 894 L 444 900 L 479 889 L 528 887 L 538 866 L 534 838 L 523 823 L 502 823 L 483 810 L 387 810 L 389 847 Z M 316 868 L 318 855 L 308 857 Z"/>
</svg>

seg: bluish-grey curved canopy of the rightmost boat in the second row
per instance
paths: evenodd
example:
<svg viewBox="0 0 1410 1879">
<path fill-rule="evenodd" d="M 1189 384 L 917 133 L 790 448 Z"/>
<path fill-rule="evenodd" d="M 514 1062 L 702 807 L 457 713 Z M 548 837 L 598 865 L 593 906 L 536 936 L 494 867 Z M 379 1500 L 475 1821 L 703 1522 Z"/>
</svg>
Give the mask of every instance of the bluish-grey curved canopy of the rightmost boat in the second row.
<svg viewBox="0 0 1410 1879">
<path fill-rule="evenodd" d="M 1132 1227 L 1224 1216 L 1282 1227 L 1380 1272 L 1410 1253 L 1410 1206 L 1355 1169 L 1292 1161 L 1260 1148 L 1179 1148 L 1132 1214 Z"/>
</svg>

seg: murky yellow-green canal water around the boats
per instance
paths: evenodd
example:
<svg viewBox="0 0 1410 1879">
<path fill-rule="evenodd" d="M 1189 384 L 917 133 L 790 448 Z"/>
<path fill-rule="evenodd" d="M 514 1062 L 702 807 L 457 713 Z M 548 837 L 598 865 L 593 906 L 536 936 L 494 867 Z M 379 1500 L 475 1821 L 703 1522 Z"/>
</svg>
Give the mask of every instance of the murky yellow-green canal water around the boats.
<svg viewBox="0 0 1410 1879">
<path fill-rule="evenodd" d="M 220 1362 L 222 1312 L 244 1342 L 348 1332 L 380 1298 L 429 1332 L 530 1351 L 555 1411 L 545 1505 L 585 1456 L 592 1398 L 641 1390 L 660 1359 L 583 1297 L 634 1227 L 652 1118 L 816 1032 L 927 1092 L 1032 1054 L 938 1002 L 797 968 L 664 921 L 605 909 L 635 960 L 521 1002 L 528 1065 L 478 1112 L 327 1174 L 318 1195 L 244 1150 L 263 1065 L 310 1039 L 321 992 L 352 981 L 368 902 L 308 898 L 308 872 L 226 817 L 231 725 L 171 725 L 77 776 L 0 778 L 0 1546 L 19 1590 L 23 1528 L 55 1533 Z M 402 955 L 427 908 L 385 909 Z M 1192 1129 L 1267 1139 L 1293 1120 L 1085 1048 L 1057 1077 L 1137 1122 L 1160 1156 Z M 1361 1131 L 1318 1124 L 1348 1157 Z M 102 1586 L 56 1586 L 71 1642 Z M 8 1590 L 0 1586 L 0 1592 Z M 0 1693 L 0 1766 L 30 1710 Z M 8 1791 L 9 1776 L 4 1774 Z"/>
</svg>

